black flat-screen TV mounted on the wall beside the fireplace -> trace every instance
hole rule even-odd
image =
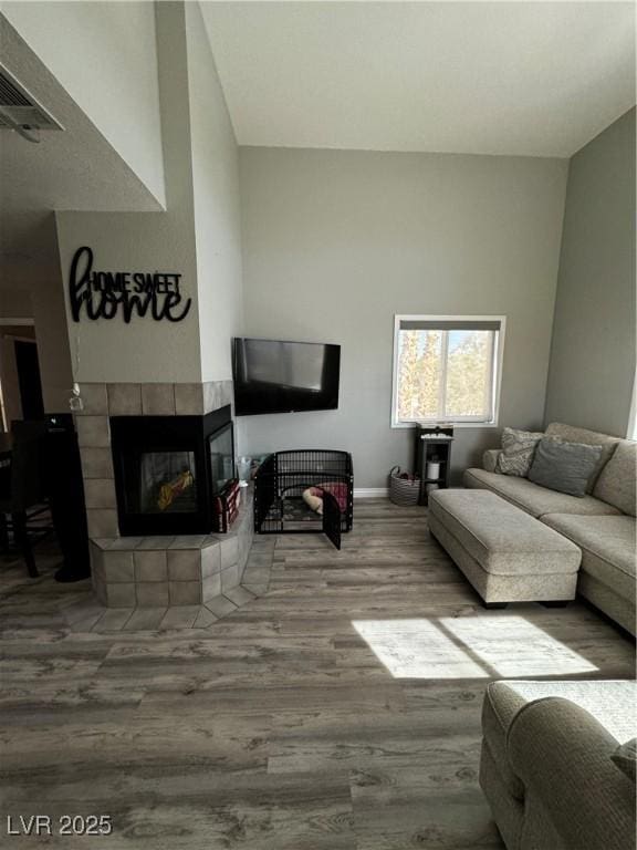
[[[338,407],[341,345],[236,339],[232,361],[238,416]]]

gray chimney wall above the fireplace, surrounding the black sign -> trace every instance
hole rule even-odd
[[[82,245],[96,269],[178,271],[192,305],[178,323],[70,320],[80,382],[231,377],[241,321],[237,144],[199,7],[157,3],[156,12],[166,212],[58,212],[60,256],[65,283]]]

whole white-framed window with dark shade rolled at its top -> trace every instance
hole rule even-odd
[[[495,425],[505,318],[397,315],[391,425]]]

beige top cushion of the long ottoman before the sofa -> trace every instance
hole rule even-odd
[[[579,549],[488,490],[437,490],[429,510],[485,572],[537,576],[576,572]]]

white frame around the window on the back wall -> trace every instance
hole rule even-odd
[[[400,421],[398,413],[398,336],[401,322],[499,322],[500,330],[495,338],[495,352],[493,353],[493,412],[489,421],[479,419],[470,416],[457,416],[436,419],[419,419],[425,423],[446,422],[455,425],[457,428],[497,428],[500,418],[500,396],[502,390],[502,364],[504,361],[504,336],[507,332],[505,315],[416,315],[411,313],[400,313],[394,315],[394,361],[391,371],[391,422],[393,428],[414,428],[417,422]]]

